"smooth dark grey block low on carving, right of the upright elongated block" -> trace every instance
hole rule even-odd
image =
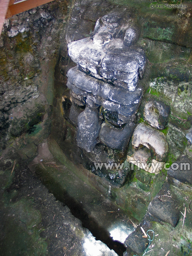
[[[135,124],[126,124],[123,128],[115,128],[103,124],[100,129],[99,139],[109,148],[124,151],[129,143]]]

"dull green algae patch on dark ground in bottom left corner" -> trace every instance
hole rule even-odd
[[[0,239],[1,255],[48,255],[47,243],[39,232],[41,214],[34,209],[33,201],[21,199],[9,203],[3,211],[5,215],[4,235]]]

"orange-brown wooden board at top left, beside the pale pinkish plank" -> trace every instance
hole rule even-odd
[[[20,12],[25,12],[30,9],[33,9],[39,5],[46,4],[52,2],[50,0],[26,0],[23,2],[18,2],[9,6],[9,10],[11,15],[18,14]]]

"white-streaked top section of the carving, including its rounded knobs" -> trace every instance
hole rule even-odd
[[[126,47],[137,41],[139,32],[121,22],[117,14],[105,15],[96,22],[91,38],[69,43],[68,52],[84,72],[134,91],[143,76],[146,57],[138,47]]]

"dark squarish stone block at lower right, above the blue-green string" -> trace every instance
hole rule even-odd
[[[180,219],[180,203],[176,196],[170,194],[169,191],[170,185],[165,182],[160,192],[150,202],[148,212],[175,227]]]

